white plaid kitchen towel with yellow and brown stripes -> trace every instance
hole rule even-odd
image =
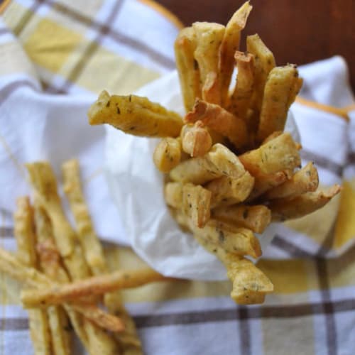
[[[2,6],[0,245],[15,249],[14,202],[29,192],[23,164],[46,158],[59,177],[60,163],[73,156],[99,235],[127,244],[102,175],[104,129],[89,127],[86,111],[103,88],[129,94],[173,70],[181,23],[146,0]],[[302,158],[315,161],[322,184],[342,183],[341,196],[280,226],[258,263],[275,285],[264,305],[234,305],[229,282],[181,280],[124,291],[146,354],[354,353],[354,98],[342,58],[300,73],[305,84],[292,109]],[[113,268],[143,265],[129,248],[111,244],[107,258]],[[31,354],[20,286],[0,278],[0,354]]]

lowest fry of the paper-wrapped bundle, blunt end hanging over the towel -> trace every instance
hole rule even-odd
[[[231,298],[241,305],[252,305],[263,303],[265,296],[273,292],[273,284],[251,261],[242,256],[226,253],[221,247],[212,244],[201,235],[194,234],[195,239],[207,249],[214,253],[224,266],[227,275],[233,284]]]

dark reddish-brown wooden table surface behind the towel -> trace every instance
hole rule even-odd
[[[226,24],[244,0],[158,0],[180,20]],[[252,0],[244,31],[258,33],[278,65],[342,55],[355,91],[355,0]],[[244,50],[245,40],[242,40]]]

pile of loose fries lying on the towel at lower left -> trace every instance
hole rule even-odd
[[[151,268],[109,273],[82,192],[77,160],[62,165],[63,190],[75,219],[67,221],[48,162],[27,165],[33,186],[14,214],[16,256],[0,249],[0,271],[25,284],[23,307],[35,354],[71,354],[71,330],[88,354],[143,354],[119,289],[166,280]],[[104,310],[104,308],[106,310]]]

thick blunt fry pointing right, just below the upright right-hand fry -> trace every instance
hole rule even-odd
[[[258,149],[239,155],[239,160],[255,178],[300,166],[300,154],[290,133],[283,133]]]

